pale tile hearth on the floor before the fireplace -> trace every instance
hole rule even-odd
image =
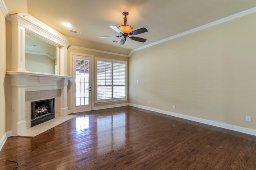
[[[40,133],[43,133],[57,125],[60,125],[61,123],[64,123],[65,121],[68,121],[73,117],[76,117],[76,115],[66,115],[66,116],[56,117],[54,119],[51,119],[49,121],[46,121],[44,123],[41,123],[39,125],[36,125],[34,127],[27,129],[26,133],[19,135],[19,137],[35,137],[36,135],[39,135]]]

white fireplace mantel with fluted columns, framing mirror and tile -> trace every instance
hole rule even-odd
[[[42,23],[29,14],[13,14],[12,23],[12,68],[6,73],[11,78],[12,87],[12,136],[26,132],[25,92],[40,90],[61,91],[60,115],[68,115],[67,107],[67,49],[70,43],[64,35]],[[28,72],[25,69],[25,33],[58,45],[60,55],[57,57],[57,75],[38,72]]]

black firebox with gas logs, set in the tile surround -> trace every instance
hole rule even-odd
[[[31,127],[54,119],[54,98],[31,102]]]

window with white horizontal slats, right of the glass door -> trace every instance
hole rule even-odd
[[[96,58],[96,103],[126,100],[126,61]]]

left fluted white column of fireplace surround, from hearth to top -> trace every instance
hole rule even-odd
[[[18,25],[18,15],[11,16],[12,21],[12,68],[9,75],[12,87],[12,135],[17,136],[26,132],[25,121],[25,28]]]

